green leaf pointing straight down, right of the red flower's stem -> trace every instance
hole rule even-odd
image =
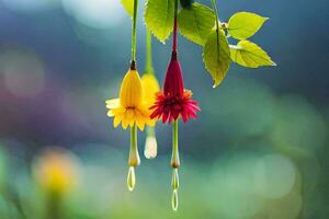
[[[214,88],[223,81],[230,65],[227,38],[223,31],[218,33],[219,42],[217,41],[216,32],[212,33],[203,50],[203,61],[214,79]]]

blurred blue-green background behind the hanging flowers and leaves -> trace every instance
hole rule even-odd
[[[141,157],[129,193],[129,134],[106,117],[104,101],[118,95],[131,55],[120,0],[0,0],[0,218],[328,218],[329,2],[217,4],[223,21],[238,11],[271,18],[252,41],[277,67],[232,65],[213,89],[202,48],[179,38],[185,85],[202,112],[180,124],[173,212],[171,127],[158,123],[158,158]],[[154,41],[160,81],[170,45]]]

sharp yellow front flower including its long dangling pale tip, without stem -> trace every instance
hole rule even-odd
[[[135,168],[140,164],[137,147],[137,127],[144,130],[145,125],[152,127],[156,123],[155,119],[150,118],[151,111],[149,110],[148,101],[145,99],[141,80],[134,60],[122,81],[120,97],[107,100],[105,103],[106,108],[109,108],[107,116],[114,117],[114,127],[117,127],[121,123],[124,129],[128,126],[131,127],[127,187],[132,192],[136,185]]]

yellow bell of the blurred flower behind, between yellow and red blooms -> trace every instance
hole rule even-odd
[[[145,73],[141,77],[141,84],[145,91],[145,102],[150,107],[156,102],[156,94],[160,91],[159,82],[155,74]]]

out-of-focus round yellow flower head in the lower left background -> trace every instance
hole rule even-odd
[[[61,149],[48,149],[36,159],[33,174],[46,192],[64,194],[77,185],[77,162]]]

